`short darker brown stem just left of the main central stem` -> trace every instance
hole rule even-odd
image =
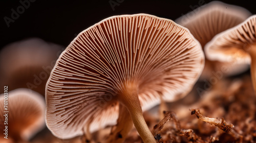
[[[133,120],[129,111],[121,103],[119,104],[119,117],[117,125],[112,128],[107,142],[122,143],[127,134],[133,128]]]

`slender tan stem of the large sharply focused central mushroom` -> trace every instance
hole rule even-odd
[[[156,139],[152,135],[150,129],[148,129],[142,114],[142,109],[138,97],[138,86],[134,83],[126,83],[124,91],[119,96],[119,100],[129,111],[134,126],[140,134],[143,142],[156,143]]]

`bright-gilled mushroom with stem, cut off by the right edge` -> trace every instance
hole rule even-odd
[[[211,60],[222,62],[251,62],[251,79],[256,94],[256,15],[216,35],[205,45],[205,54]]]

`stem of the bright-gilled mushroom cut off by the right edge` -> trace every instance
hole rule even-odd
[[[251,57],[251,80],[256,95],[256,46],[250,48],[249,54]]]

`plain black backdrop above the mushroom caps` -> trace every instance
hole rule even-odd
[[[22,2],[32,0],[22,0]],[[192,11],[197,6],[207,4],[209,0],[180,1],[42,1],[33,0],[27,9],[20,9],[19,16],[9,23],[4,17],[11,18],[12,9],[22,6],[20,1],[2,0],[1,7],[1,42],[0,48],[8,43],[29,37],[39,37],[49,42],[68,46],[81,31],[100,20],[121,14],[147,13],[158,17],[175,20],[182,14]],[[117,3],[112,9],[110,2]],[[118,3],[119,2],[119,3]],[[256,14],[256,5],[252,1],[222,1],[238,5]],[[114,4],[113,4],[114,5]]]

